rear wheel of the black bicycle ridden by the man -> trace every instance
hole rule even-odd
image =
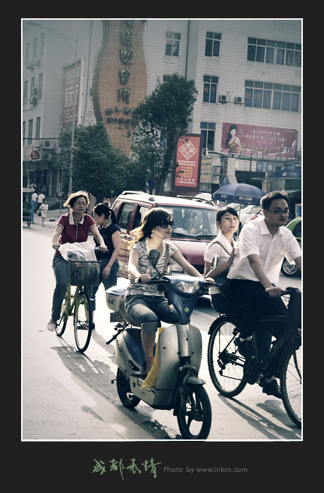
[[[213,324],[208,342],[208,370],[213,386],[226,397],[234,397],[247,385],[244,379],[245,358],[234,342],[239,330],[231,316],[220,316]]]

